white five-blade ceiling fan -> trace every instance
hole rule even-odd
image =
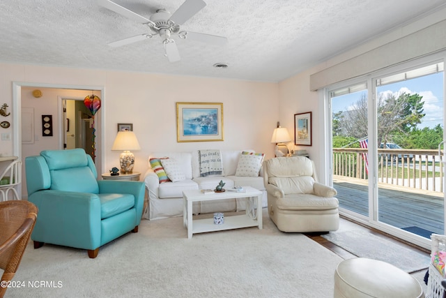
[[[159,35],[162,38],[167,59],[170,62],[175,62],[180,60],[180,53],[176,47],[175,40],[172,38],[173,35],[177,35],[179,38],[190,38],[191,40],[211,43],[213,45],[224,45],[228,42],[227,38],[223,36],[180,31],[180,25],[184,24],[206,6],[203,0],[186,0],[173,14],[165,9],[159,9],[148,19],[110,0],[98,0],[98,4],[124,17],[128,17],[130,20],[145,24],[151,29],[149,33],[143,33],[109,43],[108,45],[111,47],[121,47],[122,45],[136,43],[139,40]]]

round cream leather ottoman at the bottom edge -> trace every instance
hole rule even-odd
[[[337,297],[424,297],[420,283],[386,262],[367,258],[344,260],[334,272]]]

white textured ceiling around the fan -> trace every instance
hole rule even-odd
[[[182,30],[228,38],[215,46],[174,37],[169,63],[159,36],[107,43],[150,29],[94,0],[1,0],[0,61],[278,82],[400,24],[445,0],[205,0]],[[116,0],[146,18],[184,0]],[[213,68],[215,63],[229,68]]]

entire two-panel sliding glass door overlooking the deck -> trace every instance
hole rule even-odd
[[[420,64],[328,90],[341,213],[409,240],[444,234],[443,69]]]

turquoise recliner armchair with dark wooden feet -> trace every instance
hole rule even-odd
[[[127,232],[138,232],[144,183],[96,180],[91,156],[84,149],[47,150],[25,158],[28,200],[39,209],[31,239],[88,250]]]

